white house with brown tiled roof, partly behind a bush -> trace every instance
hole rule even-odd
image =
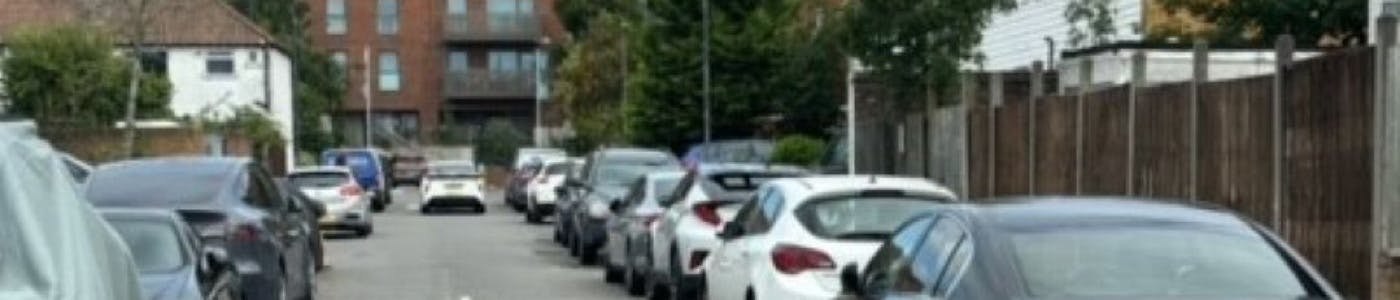
[[[119,28],[83,8],[90,3],[94,0],[0,0],[0,32],[76,21]],[[286,163],[294,165],[294,79],[287,52],[221,0],[153,3],[157,7],[148,10],[151,25],[144,60],[157,66],[150,71],[168,76],[171,112],[220,119],[238,107],[260,108],[277,122],[288,142],[283,151]]]

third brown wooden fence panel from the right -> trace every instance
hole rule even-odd
[[[1190,196],[1190,83],[1138,91],[1133,179],[1137,195]]]

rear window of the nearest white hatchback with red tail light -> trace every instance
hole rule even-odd
[[[937,209],[945,199],[930,198],[837,198],[808,202],[794,210],[813,236],[825,238],[879,240],[904,220]]]

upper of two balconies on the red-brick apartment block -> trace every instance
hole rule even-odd
[[[535,43],[543,36],[535,15],[490,18],[470,14],[468,18],[444,20],[442,38],[449,43]]]

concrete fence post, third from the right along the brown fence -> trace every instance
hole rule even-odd
[[[1187,195],[1191,200],[1200,200],[1200,168],[1201,168],[1201,91],[1207,81],[1210,81],[1210,60],[1211,53],[1205,41],[1196,41],[1191,48],[1191,102],[1189,108],[1189,126],[1190,126],[1190,140],[1187,142],[1190,149],[1190,163],[1187,171]]]

